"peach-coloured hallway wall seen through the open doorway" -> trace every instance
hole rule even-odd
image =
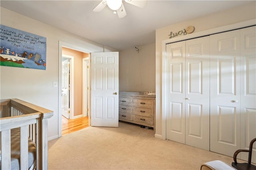
[[[82,58],[86,53],[62,47],[62,55],[74,57],[74,116],[82,114]]]

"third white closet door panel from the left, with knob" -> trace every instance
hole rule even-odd
[[[210,35],[210,150],[240,149],[240,30]]]

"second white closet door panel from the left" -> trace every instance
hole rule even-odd
[[[210,36],[186,41],[186,145],[210,149]]]

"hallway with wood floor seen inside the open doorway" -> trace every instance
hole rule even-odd
[[[88,78],[84,78],[88,70],[81,64],[84,59],[88,63],[88,53],[62,47],[62,135],[88,124],[88,92],[82,88],[86,86],[88,89]]]

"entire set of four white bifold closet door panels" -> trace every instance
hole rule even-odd
[[[228,156],[249,149],[256,138],[256,26],[167,44],[165,74],[166,139]]]

